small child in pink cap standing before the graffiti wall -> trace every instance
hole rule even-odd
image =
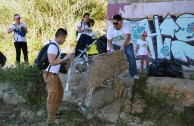
[[[149,65],[148,55],[151,56],[150,49],[149,49],[149,42],[146,40],[146,37],[147,37],[147,32],[143,31],[141,33],[141,39],[137,41],[137,47],[135,50],[136,53],[138,51],[138,55],[140,59],[140,67],[142,69],[142,72],[144,68],[144,62],[146,62],[146,69],[148,68],[148,65]]]

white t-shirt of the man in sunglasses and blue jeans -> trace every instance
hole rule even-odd
[[[113,25],[109,26],[107,31],[107,39],[112,40],[112,43],[122,46],[125,42],[125,35],[131,34],[130,27],[127,23],[123,23],[120,30],[116,30]]]

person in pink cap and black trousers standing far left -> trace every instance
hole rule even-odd
[[[16,50],[16,62],[20,62],[21,50],[24,55],[24,61],[28,62],[28,49],[26,41],[27,28],[24,22],[20,22],[20,15],[14,15],[14,23],[8,29],[8,34],[14,32],[14,46]]]

